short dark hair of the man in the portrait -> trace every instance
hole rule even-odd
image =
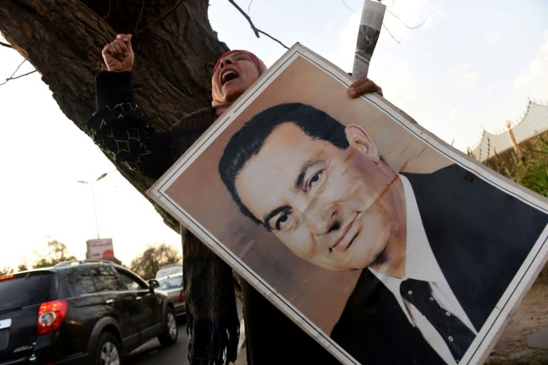
[[[283,123],[293,123],[310,138],[327,140],[341,150],[348,147],[345,126],[322,110],[306,104],[279,104],[255,114],[248,120],[228,141],[219,161],[219,173],[243,215],[250,217],[258,225],[264,225],[264,223],[258,220],[240,200],[235,180],[245,163],[259,153],[274,128]]]

